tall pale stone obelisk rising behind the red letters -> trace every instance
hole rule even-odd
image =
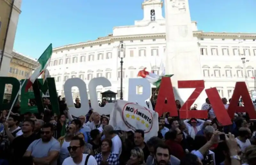
[[[174,74],[172,85],[175,99],[182,103],[194,89],[178,89],[178,80],[202,80],[198,40],[193,37],[188,0],[165,0],[166,73]],[[198,107],[205,102],[205,92],[195,101]]]

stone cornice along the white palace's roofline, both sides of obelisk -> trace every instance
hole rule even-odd
[[[200,37],[218,37],[218,38],[251,38],[256,39],[255,33],[215,33],[215,32],[203,32],[203,31],[194,31],[194,36]],[[87,42],[80,42],[77,44],[69,44],[61,47],[54,48],[53,51],[61,51],[61,50],[68,50],[68,49],[76,49],[82,48],[87,46],[99,45],[99,44],[106,44],[106,43],[113,43],[114,41],[122,41],[122,40],[134,40],[134,39],[147,39],[147,38],[165,38],[165,33],[158,33],[158,34],[139,34],[139,35],[122,35],[122,36],[113,36],[108,35],[105,37],[99,37],[94,41],[87,41]]]

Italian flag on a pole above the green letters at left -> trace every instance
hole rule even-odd
[[[26,92],[34,84],[35,80],[46,70],[48,64],[51,61],[51,56],[52,56],[52,44],[50,44],[48,48],[44,50],[44,53],[37,60],[40,66],[33,72],[33,74],[28,79],[25,87]]]

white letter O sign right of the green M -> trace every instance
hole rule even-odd
[[[72,96],[72,87],[76,86],[79,89],[81,98],[81,107],[78,109],[74,105],[74,99]],[[68,79],[64,84],[64,93],[67,102],[69,112],[73,116],[86,115],[89,112],[88,96],[85,82],[80,78]]]

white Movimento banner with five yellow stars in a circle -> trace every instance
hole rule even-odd
[[[152,136],[157,136],[158,132],[158,113],[142,107],[139,104],[116,100],[115,107],[110,114],[109,124],[115,130],[144,131],[144,140],[147,141]]]

